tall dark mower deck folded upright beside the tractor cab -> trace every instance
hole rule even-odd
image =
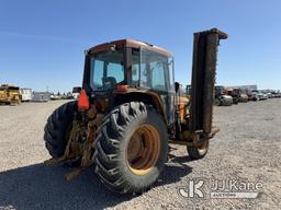
[[[220,39],[228,36],[217,28],[194,33],[193,36],[189,129],[209,135],[212,132],[217,48]]]

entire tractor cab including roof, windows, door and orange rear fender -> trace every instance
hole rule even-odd
[[[175,120],[173,59],[155,45],[121,39],[90,48],[83,89],[91,102],[103,102],[103,109],[140,101],[158,109],[168,124]]]

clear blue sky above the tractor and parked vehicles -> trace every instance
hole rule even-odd
[[[281,1],[0,0],[0,83],[45,91],[80,85],[83,50],[136,38],[170,50],[190,83],[192,33],[218,27],[217,84],[281,89]]]

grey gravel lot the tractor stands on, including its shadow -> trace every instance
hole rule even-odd
[[[90,167],[71,182],[66,166],[45,166],[49,159],[43,129],[63,101],[0,106],[0,210],[3,209],[280,209],[281,100],[215,107],[221,132],[207,155],[190,161],[182,145],[172,145],[170,160],[156,186],[142,196],[109,191]],[[203,179],[204,198],[184,198],[180,188]],[[257,199],[210,199],[212,182],[262,183]]]

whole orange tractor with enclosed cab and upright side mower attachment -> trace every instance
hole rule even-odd
[[[218,132],[212,126],[216,57],[227,34],[212,28],[193,37],[189,100],[175,82],[172,55],[160,47],[120,39],[87,50],[79,100],[47,119],[53,159],[46,164],[78,164],[66,179],[92,165],[109,189],[142,194],[158,179],[169,143],[186,145],[192,159],[205,156]]]

